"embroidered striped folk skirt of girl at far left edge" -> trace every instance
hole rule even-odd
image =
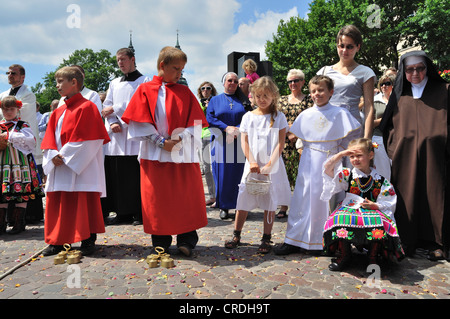
[[[23,203],[44,197],[42,181],[33,155],[9,145],[0,152],[2,194],[0,203]]]

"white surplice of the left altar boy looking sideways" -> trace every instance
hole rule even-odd
[[[44,150],[42,167],[47,175],[45,192],[99,192],[106,195],[105,170],[103,168],[103,139],[68,142],[61,145],[61,126],[64,114],[55,130],[58,150]],[[64,164],[55,167],[53,157],[61,154]]]

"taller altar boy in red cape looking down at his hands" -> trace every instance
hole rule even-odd
[[[139,86],[122,120],[129,136],[141,141],[144,232],[152,235],[154,248],[166,251],[177,235],[179,251],[190,256],[196,230],[208,223],[197,152],[207,122],[190,89],[177,84],[186,62],[183,51],[163,48],[158,76]]]

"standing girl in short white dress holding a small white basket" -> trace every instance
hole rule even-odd
[[[225,243],[225,247],[231,249],[240,244],[241,231],[248,211],[260,208],[264,209],[264,233],[258,252],[265,254],[272,248],[270,239],[275,210],[278,205],[288,205],[290,201],[289,180],[284,163],[280,159],[289,125],[284,114],[277,111],[278,88],[269,77],[256,80],[251,91],[257,108],[246,113],[240,125],[246,162],[239,184],[235,230],[233,238]],[[264,180],[263,175],[270,176],[268,193],[250,194],[246,185],[247,177]]]

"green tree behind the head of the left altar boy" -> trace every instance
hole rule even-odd
[[[85,71],[84,85],[94,91],[106,91],[112,79],[120,76],[116,58],[111,56],[108,50],[94,52],[91,49],[76,50],[69,58],[64,59],[58,68],[43,77],[43,83],[39,82],[32,91],[36,94],[37,101],[41,104],[41,112],[47,112],[50,103],[60,96],[56,90],[55,73],[64,66],[79,65]]]

